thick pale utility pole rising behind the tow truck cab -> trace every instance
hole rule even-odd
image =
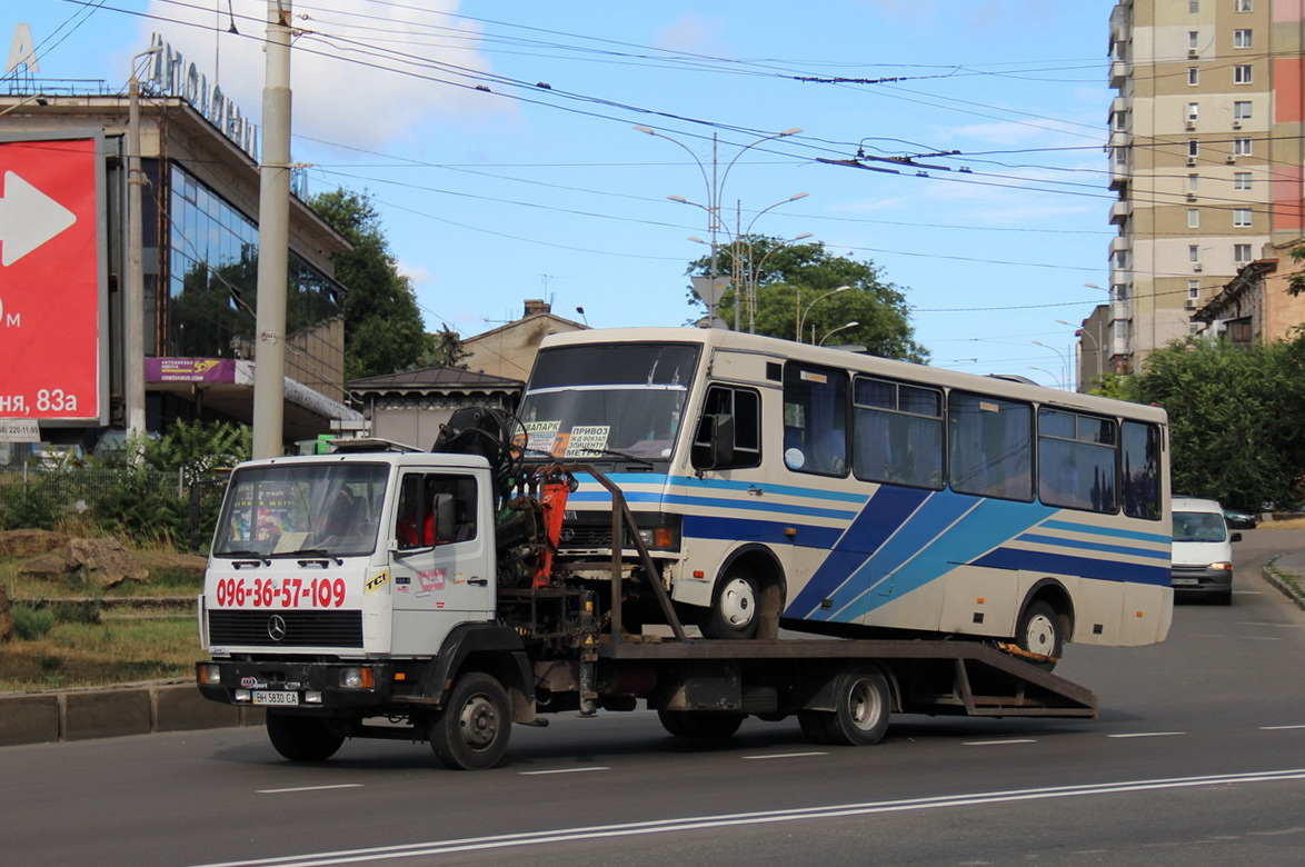
[[[268,0],[268,65],[258,166],[258,306],[253,456],[281,457],[286,394],[286,282],[290,260],[290,0]]]

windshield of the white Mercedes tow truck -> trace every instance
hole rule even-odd
[[[371,554],[389,467],[283,464],[236,470],[222,504],[217,556]]]

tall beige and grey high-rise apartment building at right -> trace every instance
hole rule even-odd
[[[1302,50],[1297,1],[1113,8],[1108,370],[1139,371],[1245,266],[1300,240]]]

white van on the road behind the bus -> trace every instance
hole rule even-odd
[[[1173,497],[1172,573],[1174,595],[1206,597],[1232,603],[1232,543],[1228,521],[1216,500]]]

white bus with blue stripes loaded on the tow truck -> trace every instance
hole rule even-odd
[[[518,417],[527,458],[590,465],[621,488],[650,555],[620,542],[626,568],[651,563],[646,577],[709,638],[966,636],[1053,661],[1070,641],[1169,629],[1158,407],[629,328],[547,337]],[[582,578],[611,561],[611,505],[581,473],[559,558]],[[637,608],[638,582],[622,586]]]

